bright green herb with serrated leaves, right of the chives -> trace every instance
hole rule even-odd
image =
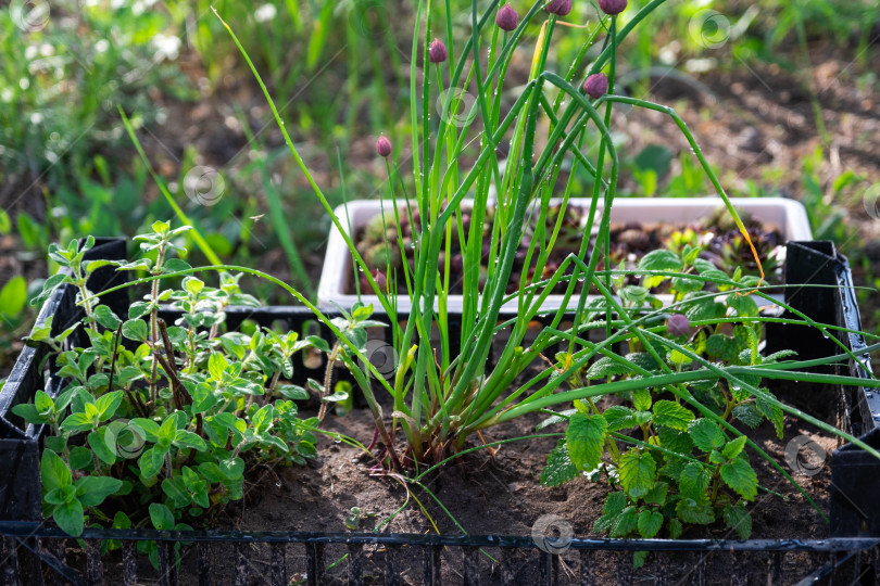
[[[654,251],[639,263],[645,271],[642,285],[618,290],[624,311],[663,311],[665,326],[653,331],[640,327],[656,352],[645,351],[644,337],[627,333],[625,360],[601,357],[578,372],[573,384],[638,381],[659,375],[662,367],[683,373],[706,362],[766,368],[794,354],[764,356],[762,322],[753,321],[759,317],[757,304],[752,296],[724,294],[757,278],[742,278],[739,270],[729,277],[699,258],[700,252],[690,245],[678,253]],[[613,280],[621,283],[624,275]],[[676,302],[672,307],[662,308],[650,292],[664,281]],[[706,294],[707,285],[719,293]],[[682,390],[702,411],[666,385],[612,393],[614,404],[599,396],[575,400],[575,409],[561,413],[568,420],[565,438],[550,454],[541,482],[558,485],[586,473],[593,482],[611,484],[615,491],[593,525],[611,537],[678,538],[688,525],[722,521],[740,538],[749,538],[746,505],[755,498],[757,475],[745,450],[747,437],[731,423],[754,429],[766,420],[780,438],[783,429],[783,411],[757,372],[742,375],[739,386],[725,380],[688,382]],[[558,417],[548,423],[556,421]],[[638,553],[637,564],[644,557]]]

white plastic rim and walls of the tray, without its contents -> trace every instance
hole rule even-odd
[[[806,211],[800,202],[785,198],[733,198],[731,202],[739,212],[749,212],[753,218],[779,229],[782,232],[783,241],[813,240]],[[568,205],[589,207],[590,200],[570,199]],[[463,208],[469,206],[470,200],[462,202]],[[614,202],[611,221],[689,224],[709,216],[722,206],[724,202],[720,198],[621,198]],[[343,228],[351,225],[351,229],[356,232],[380,211],[378,200],[355,200],[348,204],[348,218],[345,217],[345,206],[337,207],[336,216]],[[601,207],[596,217],[600,215]],[[345,293],[353,275],[351,253],[342,234],[336,227],[331,227],[327,254],[324,257],[324,269],[318,283],[318,307],[332,309],[339,305],[350,308],[359,300],[356,295]],[[562,295],[548,296],[544,308],[557,309],[562,304]],[[361,295],[361,302],[373,305],[376,311],[381,311],[381,304],[375,295]],[[577,303],[577,297],[573,297],[569,303]],[[397,305],[399,311],[410,310],[410,300],[406,298],[406,295],[399,296]],[[448,308],[450,311],[461,311],[462,296],[450,295]]]

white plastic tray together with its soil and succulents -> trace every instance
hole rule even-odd
[[[772,283],[781,284],[783,280],[781,268],[784,263],[784,243],[790,240],[809,240],[812,238],[803,206],[793,200],[782,198],[734,198],[731,201],[740,213],[747,218],[746,226],[750,229],[750,235],[755,243],[762,262],[766,263],[765,271],[768,273],[768,279]],[[462,202],[462,217],[465,230],[467,230],[467,218],[469,218],[467,212],[470,205],[468,201]],[[551,201],[551,206],[558,208],[558,201]],[[553,256],[544,271],[548,276],[558,267],[565,256],[578,252],[586,229],[584,222],[589,206],[589,200],[569,200],[563,228],[553,250]],[[382,226],[381,221],[382,209],[385,209],[386,226]],[[662,198],[618,199],[614,202],[611,212],[611,268],[618,268],[623,262],[625,268],[631,269],[645,253],[666,246],[672,239],[679,243],[680,247],[684,243],[696,243],[702,238],[704,240],[702,243],[705,245],[703,255],[706,259],[724,268],[741,266],[744,272],[751,271],[757,275],[757,267],[754,264],[751,250],[736,226],[727,219],[725,212],[726,208],[721,200],[716,198],[688,200]],[[400,267],[402,264],[400,251],[403,251],[407,262],[412,263],[413,231],[408,213],[400,214],[400,235],[397,233],[393,208],[390,202],[380,204],[378,201],[353,201],[338,207],[336,215],[340,218],[343,227],[351,226],[355,246],[370,266],[372,275],[375,277],[376,271],[379,271],[379,282],[387,282],[388,280],[384,268],[387,260],[391,262],[392,267]],[[596,217],[600,216],[601,206]],[[417,221],[418,212],[415,211],[412,217]],[[491,229],[489,221],[487,221],[488,229]],[[596,230],[598,226],[594,226],[591,243],[594,241]],[[455,231],[455,228],[453,228],[453,231]],[[386,238],[389,239],[388,245],[386,245]],[[489,240],[487,234],[482,247],[483,265],[492,252]],[[518,277],[524,270],[528,243],[529,239],[524,238],[523,244],[520,244],[520,254],[517,255],[518,264],[515,267],[510,284],[510,292],[515,292],[519,284]],[[588,250],[588,255],[589,252]],[[440,260],[441,266],[438,267],[438,270],[442,273],[445,256],[441,255]],[[451,286],[448,307],[450,311],[461,311],[461,270],[463,263],[454,237],[449,260]],[[600,264],[600,268],[603,266],[604,263]],[[372,294],[368,283],[365,282],[366,280],[361,276],[359,282],[355,283],[354,275],[351,253],[344,243],[342,234],[336,229],[331,229],[324,269],[318,284],[319,306],[334,308],[336,307],[335,304],[338,304],[348,308],[360,298],[363,303],[373,304],[374,307],[379,308],[380,304],[377,297]],[[410,302],[406,298],[402,270],[398,270],[392,280],[398,283],[397,292],[400,293],[398,307],[400,310],[406,311]],[[360,297],[357,295],[359,288]],[[548,310],[554,310],[561,306],[563,301],[562,292],[564,292],[564,285],[546,298],[544,307]],[[658,293],[663,294],[662,291]],[[577,296],[573,298],[574,301],[569,303],[576,304]],[[665,296],[661,296],[661,298],[668,301]]]

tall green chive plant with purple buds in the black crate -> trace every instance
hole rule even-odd
[[[410,75],[414,97],[410,111],[412,182],[402,178],[395,158],[395,153],[401,150],[393,148],[390,138],[380,138],[377,142],[379,155],[386,157],[389,179],[382,214],[393,218],[398,233],[401,233],[401,217],[410,217],[413,227],[416,226],[412,221],[414,216],[419,217],[418,229],[414,229],[412,235],[412,249],[406,251],[413,257],[412,268],[406,263],[402,267],[402,279],[412,305],[403,324],[397,310],[395,278],[390,271],[384,275],[369,271],[347,230],[347,219],[334,215],[327,198],[290,139],[256,67],[227,25],[232,40],[264,89],[292,156],[336,229],[342,233],[356,269],[363,272],[368,288],[362,292],[376,295],[381,306],[376,309],[389,318],[397,356],[389,375],[377,375],[368,357],[364,356],[363,337],[341,336],[335,357],[352,372],[367,397],[390,466],[440,462],[460,453],[472,434],[480,430],[573,400],[583,402],[589,397],[637,387],[669,393],[677,403],[692,409],[694,417],[724,428],[724,433],[731,434],[732,441],[742,434],[705,404],[705,398],[694,387],[696,381],[728,381],[741,393],[766,400],[774,409],[795,413],[800,412],[762,392],[754,381],[795,378],[853,382],[846,377],[828,378],[796,371],[797,362],[774,368],[755,360],[745,365],[715,364],[701,353],[686,348],[676,339],[668,340],[651,329],[643,329],[642,326],[651,320],[662,319],[665,309],[627,307],[625,292],[615,285],[614,272],[607,270],[608,226],[619,164],[608,125],[612,109],[618,104],[656,111],[675,120],[760,267],[743,222],[678,114],[663,105],[614,93],[618,44],[663,3],[664,0],[652,0],[621,23],[620,13],[626,1],[603,0],[599,20],[584,25],[566,21],[571,10],[570,0],[535,2],[521,17],[517,13],[516,18],[511,14],[512,8],[500,7],[498,0],[490,2],[483,12],[479,12],[474,2],[470,33],[463,40],[453,36],[449,1],[420,0],[417,3]],[[535,29],[538,30],[537,38],[526,42],[527,30]],[[556,65],[551,66],[553,39],[561,35],[576,36],[581,47],[576,59],[557,72],[554,71]],[[514,79],[511,64],[515,54],[521,54],[517,49],[527,46],[531,49],[532,44],[528,78]],[[511,86],[519,89],[515,99],[508,101]],[[463,92],[455,88],[464,88],[474,98],[473,105],[465,107],[464,112]],[[439,104],[439,116],[432,116],[436,104]],[[600,137],[599,143],[586,144],[586,137],[594,133]],[[502,152],[506,156],[500,154]],[[567,205],[573,196],[576,170],[594,179],[591,193],[577,194],[591,199],[587,229],[581,234],[578,254],[567,256],[550,277],[544,278],[548,258],[564,217],[564,214],[555,214],[556,222],[548,222],[549,211],[552,205]],[[495,221],[485,235],[486,212],[492,204],[495,206]],[[517,250],[524,242],[529,220],[535,218],[535,229],[528,232],[526,240],[528,252],[525,259],[525,265],[535,267],[535,270],[523,270],[516,292],[506,294]],[[590,246],[593,228],[598,229],[598,244]],[[461,320],[457,340],[452,340],[449,311],[453,286],[450,280],[452,255],[449,253],[453,235],[461,244],[464,275],[460,283],[464,294],[462,314],[456,317]],[[481,275],[480,259],[487,244],[488,269]],[[670,270],[680,269],[683,259],[669,254],[671,258],[668,254],[651,256],[648,263],[642,263],[640,270],[652,273],[651,278],[659,278]],[[390,258],[391,255],[386,256]],[[692,258],[690,263],[693,264]],[[600,266],[605,270],[600,270]],[[681,279],[679,291],[683,291],[683,283],[692,279],[720,279],[722,284],[733,283],[725,293],[728,298],[733,295],[728,302],[731,305],[750,303],[740,301],[750,298],[747,295],[769,298],[759,288],[762,279],[738,283],[724,273],[672,277]],[[579,283],[583,285],[579,286]],[[565,285],[562,307],[558,310],[545,309],[544,301],[558,284]],[[692,288],[688,295],[699,294],[697,289]],[[588,305],[591,291],[600,296],[598,305]],[[297,296],[302,297],[298,293]],[[517,318],[500,322],[503,306],[515,307]],[[601,310],[599,315],[596,310]],[[537,335],[529,335],[527,341],[529,324],[539,315],[548,316],[549,323]],[[592,343],[582,336],[596,319],[605,330],[606,341],[603,343]],[[754,311],[742,314],[736,310],[719,319],[730,322],[758,320]],[[807,318],[803,319],[809,322]],[[569,321],[570,327],[564,328],[564,321]],[[752,331],[751,326],[743,327]],[[817,327],[824,331],[828,329],[822,324]],[[436,344],[431,342],[432,332],[439,333]],[[640,345],[639,352],[655,360],[653,370],[640,366],[628,355],[614,352],[615,343],[631,341],[633,336]],[[554,368],[531,375],[528,372],[531,365],[560,343],[565,349]],[[494,353],[494,364],[490,365],[488,357],[496,344],[501,349]],[[696,366],[680,369],[670,365],[665,358],[665,348],[669,344],[676,344],[675,349],[690,357]],[[455,354],[453,347],[458,347],[460,352]],[[563,391],[567,381],[596,358],[626,366],[640,378],[576,385]],[[835,360],[840,357],[828,358],[828,361]],[[876,381],[866,384],[878,385]],[[390,421],[382,417],[374,386],[381,387],[392,397]],[[824,425],[824,429],[830,428]],[[405,438],[402,456],[398,454],[399,433]],[[838,433],[880,457],[856,438]],[[750,440],[746,438],[745,444],[764,455]]]

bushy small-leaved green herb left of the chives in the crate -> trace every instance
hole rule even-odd
[[[187,276],[179,288],[163,289],[164,276],[190,269],[173,257],[184,252],[178,237],[188,228],[163,221],[152,228],[136,238],[147,255],[127,264],[83,262],[92,238],[52,246],[62,271],[35,300],[73,286],[84,309],[81,323],[56,336],[49,323],[28,341],[50,348],[64,386],[13,407],[28,423],[48,428],[43,513],[71,535],[86,525],[179,530],[209,522],[224,504],[242,498],[255,467],[303,464],[316,456],[317,419],[300,419],[294,403],[309,393],[289,380],[291,357],[323,341],[266,328],[250,335],[224,331],[228,306],[259,302],[241,291],[240,276],[227,272],[218,288]],[[153,278],[127,316],[87,289],[89,275],[108,265]],[[159,317],[162,303],[180,310],[174,324]],[[70,343],[77,328],[86,346]]]

